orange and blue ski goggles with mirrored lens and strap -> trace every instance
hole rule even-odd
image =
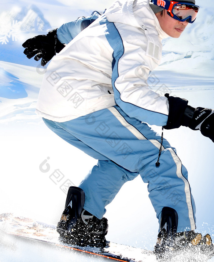
[[[166,9],[168,15],[182,22],[187,20],[188,23],[193,23],[199,10],[199,6],[185,1],[152,0],[151,2]]]

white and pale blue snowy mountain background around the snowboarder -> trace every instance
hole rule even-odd
[[[112,2],[11,0],[1,3],[0,213],[13,212],[56,224],[65,205],[63,188],[66,181],[78,185],[97,163],[57,137],[35,114],[46,67],[34,59],[27,59],[21,45],[28,38],[46,34],[78,16],[86,16],[94,10],[103,11]],[[214,108],[213,2],[198,0],[197,4],[201,6],[197,20],[188,25],[180,38],[163,41],[162,63],[151,73],[148,83],[154,91],[167,91],[188,99],[191,106]],[[153,129],[161,132],[160,127],[153,126]],[[164,130],[164,137],[177,149],[189,171],[197,207],[197,231],[209,233],[214,239],[213,143],[199,131],[186,127]],[[54,179],[55,170],[63,174],[59,182]],[[109,221],[107,239],[153,249],[158,222],[148,198],[147,185],[139,176],[123,186],[107,206],[105,217]],[[29,261],[29,257],[31,261],[97,260],[44,245],[36,245],[38,252],[35,252],[35,244],[7,241],[0,243],[1,261]],[[8,251],[14,246],[16,253],[13,256]]]

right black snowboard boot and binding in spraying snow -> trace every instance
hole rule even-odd
[[[177,212],[164,207],[161,213],[161,230],[154,247],[157,260],[177,261],[183,257],[184,261],[206,261],[214,255],[214,246],[209,234],[203,237],[194,230],[177,233],[177,225]]]

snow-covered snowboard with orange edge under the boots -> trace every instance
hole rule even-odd
[[[59,234],[56,231],[55,225],[42,223],[27,217],[15,216],[11,213],[0,215],[0,230],[6,232],[9,235],[41,241],[47,244],[55,245],[59,248],[84,252],[115,261],[157,261],[153,251],[117,244],[109,241],[107,241],[106,247],[102,249],[90,246],[80,247],[68,245],[58,240]]]

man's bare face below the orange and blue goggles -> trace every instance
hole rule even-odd
[[[156,16],[163,31],[174,38],[179,38],[188,24],[187,21],[181,22],[169,16],[165,9],[163,12],[163,16],[161,16],[161,12],[157,13]]]

